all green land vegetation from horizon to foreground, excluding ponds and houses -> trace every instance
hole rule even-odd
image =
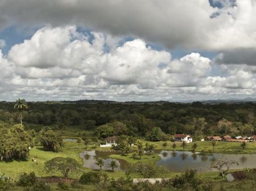
[[[215,133],[253,134],[254,104],[246,104],[249,109],[241,105],[228,105],[228,109],[237,108],[235,114],[220,111],[223,105],[201,103],[31,103],[32,109],[28,112],[25,111],[29,108],[25,100],[17,100],[13,108],[17,111],[10,108],[10,103],[0,105],[4,108],[0,110],[1,191],[212,191],[255,188],[256,176],[251,169],[244,170],[241,180],[225,181],[226,174],[230,172],[229,167],[236,164],[235,161],[217,160],[211,167],[218,172],[196,173],[189,170],[185,173],[172,173],[155,165],[160,156],[154,153],[155,149],[256,153],[254,142],[171,142],[171,134],[174,133],[190,133],[196,140]],[[113,105],[121,108],[113,109]],[[170,109],[170,106],[173,108]],[[208,112],[208,116],[205,117],[202,111]],[[15,125],[15,122],[20,124]],[[117,146],[99,147],[102,141],[105,142],[104,138],[112,135],[118,135]],[[75,138],[73,142],[63,141],[63,138],[71,137]],[[112,160],[110,170],[102,170],[105,160],[96,158],[98,169],[82,167],[79,154],[84,150],[118,150],[119,154],[112,154],[110,158],[125,160],[129,165],[126,171],[117,171],[115,168],[118,165]],[[133,184],[132,179],[141,177],[162,177],[164,181]]]

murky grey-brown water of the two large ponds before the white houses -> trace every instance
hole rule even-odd
[[[105,165],[102,169],[111,169],[109,163],[115,160],[118,164],[117,170],[124,171],[127,168],[125,160],[110,159],[110,154],[118,154],[118,152],[100,152],[100,151],[84,151],[80,153],[80,157],[84,161],[84,167],[91,169],[99,169],[95,164],[96,158],[100,157],[105,160]],[[160,160],[156,165],[164,165],[171,172],[184,172],[186,169],[197,169],[198,172],[210,172],[210,164],[217,159],[236,160],[239,165],[233,165],[233,169],[238,168],[256,168],[256,154],[219,154],[200,155],[200,153],[193,154],[188,151],[163,151],[155,150],[155,153],[160,156]],[[232,169],[231,168],[231,169]]]

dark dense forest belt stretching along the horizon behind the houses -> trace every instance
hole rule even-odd
[[[80,126],[86,130],[119,121],[129,129],[128,134],[141,136],[156,126],[170,134],[250,135],[255,133],[255,112],[255,103],[47,101],[28,102],[28,109],[23,112],[23,120],[30,125],[53,126],[56,129]],[[19,122],[19,112],[14,109],[14,103],[0,103],[0,120]]]

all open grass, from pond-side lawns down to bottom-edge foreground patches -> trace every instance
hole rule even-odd
[[[146,141],[144,141],[146,143]],[[163,149],[163,142],[148,142],[148,143],[154,143],[157,145],[157,149]],[[168,146],[166,147],[167,150],[172,150],[172,142],[168,142]],[[182,147],[180,143],[176,143],[177,148],[176,150],[182,150]],[[188,144],[185,150],[191,150],[191,145]],[[197,142],[198,148],[197,151],[201,151],[202,149],[211,149],[212,146],[210,146],[209,142]],[[97,150],[109,150],[111,147],[96,147],[95,145],[89,145],[88,149],[97,149]],[[31,148],[30,151],[30,158],[28,158],[27,161],[13,161],[13,162],[1,162],[0,163],[0,173],[5,173],[6,176],[10,176],[12,179],[17,180],[18,176],[22,172],[35,172],[36,176],[61,176],[60,173],[51,173],[47,174],[46,171],[44,171],[44,163],[52,159],[56,156],[63,156],[63,157],[71,157],[77,160],[80,164],[82,164],[82,159],[79,157],[79,153],[81,151],[85,150],[85,146],[76,142],[65,142],[64,147],[60,152],[51,152],[51,151],[44,151],[42,147],[34,147]],[[230,151],[231,150],[231,151]],[[228,142],[218,142],[218,145],[215,147],[214,151],[217,152],[242,152],[242,149],[240,148],[239,143],[228,143]],[[247,153],[255,153],[256,152],[256,146],[253,143],[247,144],[247,148],[245,150]],[[36,156],[37,163],[32,162],[32,158]],[[131,158],[131,154],[125,156],[125,155],[110,155],[110,157],[115,158],[115,159],[123,159],[126,160],[128,163],[136,163],[136,162],[144,162],[144,163],[155,163],[157,160],[159,160],[158,155],[143,155],[142,159],[133,159]],[[88,168],[81,168],[80,172],[76,173],[71,173],[70,177],[79,179],[81,174],[83,172],[88,172],[88,171],[97,171],[97,170],[92,170]],[[114,179],[118,179],[119,177],[125,177],[125,172],[123,171],[105,171],[108,176]],[[180,173],[166,173],[164,174],[165,177],[174,177],[176,175],[179,175]],[[221,188],[224,188],[225,190],[253,190],[250,188],[249,181],[248,180],[243,180],[243,181],[235,181],[235,182],[226,182],[221,179],[221,177],[218,175],[217,172],[207,172],[207,173],[198,173],[198,176],[200,176],[202,179],[209,180],[209,181],[216,181],[216,185],[214,184],[214,190],[220,190]],[[141,177],[138,174],[132,174],[132,178],[135,177]],[[57,185],[52,184],[52,190],[57,190]],[[82,190],[95,190],[97,187],[94,185],[89,185],[89,186],[83,186]],[[23,190],[23,188],[20,187],[15,187],[14,190]],[[81,189],[73,189],[74,191],[80,191]]]

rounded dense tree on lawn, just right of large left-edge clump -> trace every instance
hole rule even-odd
[[[58,152],[63,147],[63,139],[56,131],[43,128],[39,136],[41,144],[47,150]]]

